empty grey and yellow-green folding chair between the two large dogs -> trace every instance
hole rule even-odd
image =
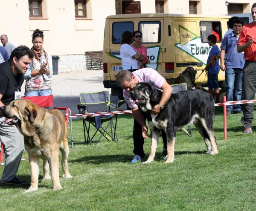
[[[108,91],[101,91],[101,92],[92,92],[92,93],[80,93],[80,104],[77,104],[77,108],[79,109],[79,114],[88,113],[88,106],[89,105],[96,105],[96,104],[106,104],[106,111],[111,111],[111,108],[115,110],[119,110],[119,107],[125,102],[125,100],[118,101],[115,104],[110,102],[110,94]],[[97,111],[93,110],[90,113],[96,113]],[[116,123],[117,123],[117,116],[110,114],[108,116],[86,116],[83,118],[83,126],[84,126],[84,142],[87,144],[90,142],[92,144],[92,140],[95,137],[96,133],[101,133],[99,139],[97,140],[96,144],[99,140],[104,136],[108,141],[115,141],[116,143],[119,142],[117,134],[116,134]],[[105,118],[101,118],[105,117]],[[86,123],[88,122],[88,125]],[[114,124],[115,121],[115,124]],[[104,123],[108,123],[106,127],[103,127]],[[106,125],[104,124],[104,126]],[[90,137],[90,129],[93,126],[96,128],[95,133],[92,137]],[[108,128],[110,126],[111,133],[108,132]],[[87,134],[87,139],[86,139]],[[95,144],[95,145],[96,145]]]

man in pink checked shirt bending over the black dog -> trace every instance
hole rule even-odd
[[[151,113],[158,114],[164,105],[169,100],[172,94],[172,87],[166,82],[166,80],[154,69],[143,68],[134,72],[123,70],[116,75],[116,82],[119,87],[123,89],[123,96],[132,110],[134,116],[134,158],[131,163],[142,161],[145,156],[143,145],[144,138],[148,139],[148,127],[146,126],[146,114],[142,113],[137,104],[132,100],[130,91],[133,90],[134,85],[138,82],[147,82],[159,90],[163,90],[163,95],[159,104],[155,105],[151,110]],[[166,133],[162,130],[163,138],[163,154],[167,156],[167,139]]]

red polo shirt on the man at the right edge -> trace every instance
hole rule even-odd
[[[247,61],[256,61],[256,26],[254,26],[253,23],[244,25],[239,35],[237,45],[247,43],[253,36],[253,43],[244,51],[244,58]]]

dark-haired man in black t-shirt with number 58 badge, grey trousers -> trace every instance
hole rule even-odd
[[[12,51],[10,60],[0,64],[0,107],[9,104],[21,95],[23,75],[29,69],[34,53],[27,46],[18,46]],[[17,178],[16,173],[24,148],[23,136],[15,125],[4,124],[6,118],[1,116],[0,139],[5,145],[5,165],[1,183],[24,185],[25,181]]]

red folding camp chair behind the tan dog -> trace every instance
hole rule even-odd
[[[28,99],[32,103],[37,104],[40,107],[50,107],[53,108],[53,95],[48,96],[34,96],[34,97],[22,97],[22,99]],[[68,107],[55,107],[58,110],[66,110],[67,115],[71,115],[71,110]],[[66,115],[65,115],[66,116]],[[68,127],[68,118],[66,118],[66,124]],[[70,118],[70,129],[71,129],[71,137],[67,137],[71,140],[71,147],[73,148],[73,131],[72,131],[72,119]]]

